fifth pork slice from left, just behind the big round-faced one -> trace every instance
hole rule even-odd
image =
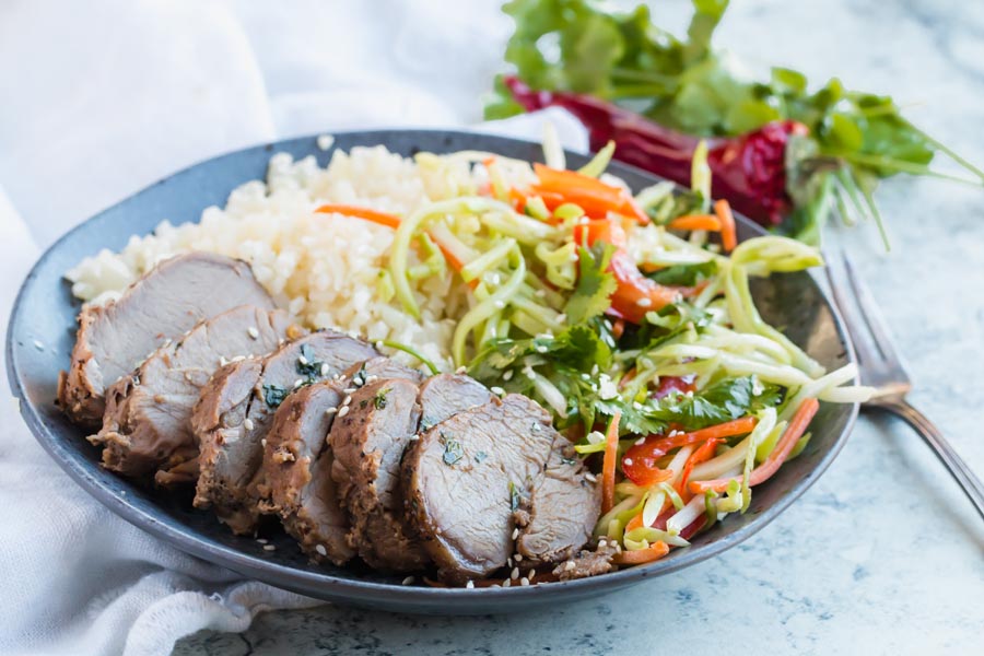
[[[418,386],[384,378],[355,390],[336,415],[328,442],[331,478],[349,513],[349,543],[370,565],[394,572],[429,559],[405,522],[400,458],[420,423]]]

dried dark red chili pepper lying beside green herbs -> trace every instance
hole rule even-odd
[[[565,92],[536,91],[515,77],[505,84],[528,112],[563,107],[588,129],[591,149],[616,143],[616,159],[681,185],[690,185],[700,139],[670,130],[618,105]],[[786,144],[809,129],[794,120],[765,124],[734,138],[707,139],[712,195],[763,225],[777,225],[793,207],[786,194]]]

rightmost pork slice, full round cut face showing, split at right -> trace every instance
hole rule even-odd
[[[410,523],[442,578],[488,576],[514,554],[520,531],[519,553],[531,563],[587,541],[599,504],[566,444],[550,414],[520,395],[458,412],[411,444],[402,464]]]

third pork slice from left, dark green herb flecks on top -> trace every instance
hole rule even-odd
[[[195,505],[212,507],[237,534],[253,532],[269,496],[260,466],[277,408],[295,389],[340,376],[376,354],[364,341],[319,330],[284,344],[259,366],[244,361],[216,377],[202,390],[192,418],[200,449]]]

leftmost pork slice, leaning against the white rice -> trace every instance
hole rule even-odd
[[[239,305],[273,309],[247,263],[209,253],[164,260],[118,301],[83,307],[71,364],[59,376],[59,406],[72,421],[98,427],[110,385],[168,339]]]

